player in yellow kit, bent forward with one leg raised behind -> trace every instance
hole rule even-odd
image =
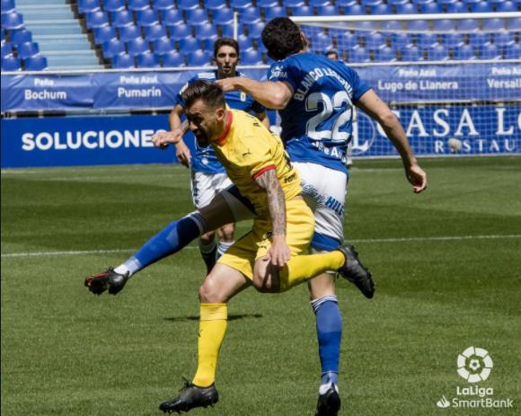
[[[247,113],[227,110],[216,84],[195,81],[182,98],[199,145],[215,148],[255,216],[250,233],[225,252],[199,288],[198,369],[181,394],[160,405],[163,412],[188,412],[218,401],[216,362],[226,331],[227,302],[243,288],[281,292],[325,270],[339,270],[346,279],[370,279],[349,245],[302,254],[313,236],[313,213],[278,137]]]

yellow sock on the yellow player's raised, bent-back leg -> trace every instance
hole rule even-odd
[[[344,254],[338,250],[293,257],[287,261],[287,267],[280,272],[280,291],[284,292],[325,271],[337,270],[344,261],[346,261]]]

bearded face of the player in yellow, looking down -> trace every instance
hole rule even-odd
[[[218,138],[223,130],[225,109],[211,108],[198,100],[186,110],[189,128],[197,138],[198,145],[206,147]]]

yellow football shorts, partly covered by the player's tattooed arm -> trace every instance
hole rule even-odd
[[[313,237],[313,230],[313,212],[304,199],[286,201],[286,242],[291,257],[307,250]],[[239,270],[248,279],[253,279],[255,261],[265,256],[270,246],[271,219],[255,218],[252,231],[237,240],[217,262]]]

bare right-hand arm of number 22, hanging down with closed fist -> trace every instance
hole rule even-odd
[[[373,90],[364,93],[358,100],[357,106],[382,126],[385,134],[402,156],[405,174],[407,180],[412,184],[412,190],[416,193],[426,190],[427,174],[419,167],[402,124],[393,111],[380,100],[380,97]]]

